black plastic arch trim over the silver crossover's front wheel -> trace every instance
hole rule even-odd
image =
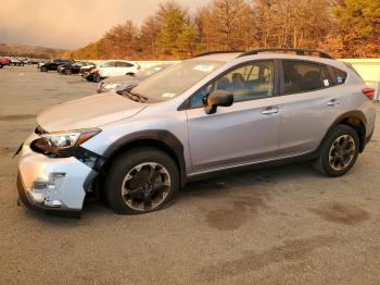
[[[147,141],[159,142],[166,146],[163,150],[166,152],[169,151],[170,153],[168,154],[170,157],[174,156],[174,159],[179,166],[180,185],[183,187],[187,182],[183,145],[174,134],[165,129],[140,131],[118,138],[103,152],[102,157],[105,158],[105,163],[116,154],[117,151],[127,149],[128,146],[140,146],[137,145],[139,141],[142,142],[141,146],[144,146],[143,144]]]

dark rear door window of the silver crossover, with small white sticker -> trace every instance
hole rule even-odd
[[[317,90],[333,85],[325,65],[303,61],[283,61],[282,66],[286,95]]]

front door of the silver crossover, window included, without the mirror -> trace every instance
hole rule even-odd
[[[206,114],[202,102],[213,90],[231,91],[233,104]],[[279,133],[276,92],[270,60],[245,63],[195,92],[187,110],[192,172],[274,159]]]

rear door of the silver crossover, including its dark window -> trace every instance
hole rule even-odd
[[[279,157],[315,150],[342,112],[343,94],[327,65],[282,60]]]

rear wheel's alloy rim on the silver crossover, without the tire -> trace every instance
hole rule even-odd
[[[355,140],[352,136],[338,137],[330,148],[330,166],[335,171],[345,170],[354,159],[355,149]]]

